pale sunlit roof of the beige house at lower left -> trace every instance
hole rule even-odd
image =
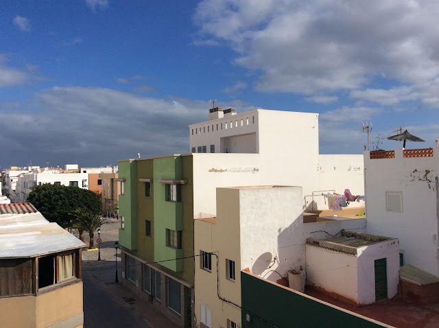
[[[23,211],[22,207],[19,208]],[[24,208],[26,211],[35,209],[30,203]],[[86,246],[58,224],[47,221],[36,210],[32,213],[2,213],[0,244],[0,259],[36,257]]]

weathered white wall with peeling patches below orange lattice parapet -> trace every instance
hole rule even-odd
[[[404,263],[439,276],[438,189],[439,148],[432,157],[370,159],[364,152],[367,232],[397,237]],[[386,192],[402,195],[402,211],[388,211]]]

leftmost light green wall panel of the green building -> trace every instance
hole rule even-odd
[[[137,250],[137,165],[136,161],[119,161],[119,178],[125,178],[123,195],[119,195],[119,215],[125,217],[125,228],[119,229],[119,243],[128,250]]]

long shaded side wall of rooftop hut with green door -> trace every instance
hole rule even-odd
[[[357,303],[358,259],[346,254],[307,244],[307,281]],[[372,282],[375,278],[372,274]],[[372,287],[371,287],[372,288]],[[375,285],[372,288],[375,293]]]

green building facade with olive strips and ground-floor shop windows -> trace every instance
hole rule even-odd
[[[193,318],[191,155],[119,161],[122,283],[180,327]]]

